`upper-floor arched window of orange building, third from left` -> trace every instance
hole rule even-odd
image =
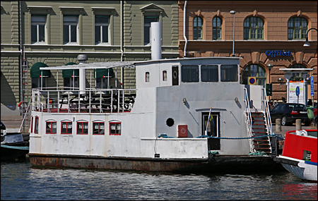
[[[258,17],[246,18],[244,21],[244,39],[264,39],[264,21]]]

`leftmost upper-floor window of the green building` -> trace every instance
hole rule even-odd
[[[45,42],[46,16],[31,16],[31,43]]]

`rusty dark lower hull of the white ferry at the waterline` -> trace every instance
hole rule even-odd
[[[285,171],[273,157],[218,156],[208,159],[163,159],[137,157],[98,157],[54,154],[28,154],[33,166],[53,168],[110,169],[165,172],[259,172]]]

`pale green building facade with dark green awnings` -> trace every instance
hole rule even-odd
[[[78,87],[78,72],[59,72],[57,83],[40,67],[72,65],[79,54],[86,63],[151,59],[151,22],[162,25],[163,59],[176,58],[177,20],[177,1],[1,1],[1,118],[19,115],[33,87]],[[135,87],[135,71],[97,71],[93,83]]]

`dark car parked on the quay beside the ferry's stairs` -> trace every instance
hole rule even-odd
[[[310,126],[310,118],[307,116],[307,107],[305,104],[282,103],[276,105],[269,111],[271,122],[275,123],[276,118],[281,118],[281,126],[288,126],[295,123],[296,119],[301,119],[305,126]]]

